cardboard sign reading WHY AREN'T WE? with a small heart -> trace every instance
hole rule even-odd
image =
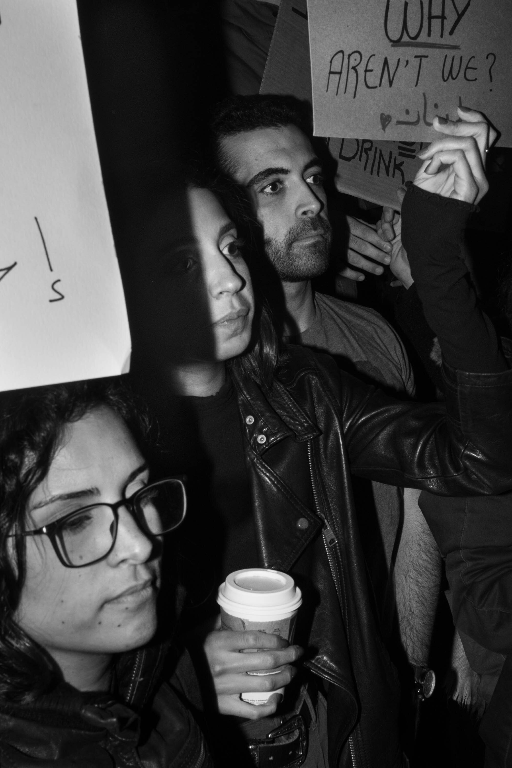
[[[512,146],[512,3],[308,0],[315,133],[432,141],[436,114],[484,112]]]

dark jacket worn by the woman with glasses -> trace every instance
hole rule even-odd
[[[0,766],[9,768],[212,768],[188,707],[193,671],[183,657],[158,682],[161,647],[125,654],[118,695],[83,694],[61,683],[27,705],[0,703]]]

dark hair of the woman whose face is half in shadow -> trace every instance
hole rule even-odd
[[[241,378],[255,381],[263,389],[272,389],[273,377],[282,359],[282,353],[272,312],[264,296],[263,285],[258,280],[261,265],[266,260],[259,243],[260,225],[243,190],[230,178],[210,171],[206,164],[201,167],[199,164],[192,165],[187,169],[186,177],[191,187],[210,190],[236,224],[238,236],[243,240],[243,258],[253,278],[256,306],[251,342],[245,352],[229,360],[227,365]]]

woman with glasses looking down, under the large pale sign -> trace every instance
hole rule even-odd
[[[144,422],[119,385],[0,408],[0,765],[210,765],[154,640],[183,482],[150,482]]]

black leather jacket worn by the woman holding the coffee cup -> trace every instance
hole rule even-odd
[[[319,599],[306,664],[329,684],[329,764],[401,766],[398,682],[368,596],[350,473],[441,495],[511,488],[512,371],[446,366],[445,404],[417,405],[363,385],[328,356],[289,350],[271,394],[233,376],[259,564],[289,571],[311,553]]]

